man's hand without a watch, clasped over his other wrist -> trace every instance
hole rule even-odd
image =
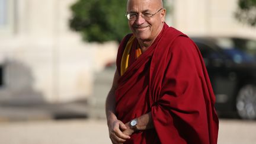
[[[108,120],[108,132],[112,143],[124,143],[130,139],[129,135],[125,135],[122,131],[126,130],[126,125],[117,119]]]

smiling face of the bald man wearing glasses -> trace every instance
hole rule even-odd
[[[139,41],[153,41],[161,32],[165,21],[165,9],[161,9],[161,0],[128,0],[127,12],[139,14],[136,20],[129,20],[130,30]],[[155,14],[149,20],[142,18],[141,14]]]

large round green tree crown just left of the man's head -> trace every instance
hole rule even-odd
[[[78,0],[71,10],[69,25],[85,41],[121,41],[130,33],[124,0]]]

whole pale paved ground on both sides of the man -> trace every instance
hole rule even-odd
[[[219,144],[256,143],[256,121],[220,120]],[[105,120],[39,120],[0,123],[3,144],[110,143]]]

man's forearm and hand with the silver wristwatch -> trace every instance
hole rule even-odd
[[[123,131],[123,133],[126,135],[132,135],[132,133],[140,130],[153,129],[154,125],[152,121],[151,112],[143,114],[140,117],[137,117],[137,130],[134,130],[132,129],[132,127],[130,127],[130,121],[126,123],[126,127],[127,129]]]

